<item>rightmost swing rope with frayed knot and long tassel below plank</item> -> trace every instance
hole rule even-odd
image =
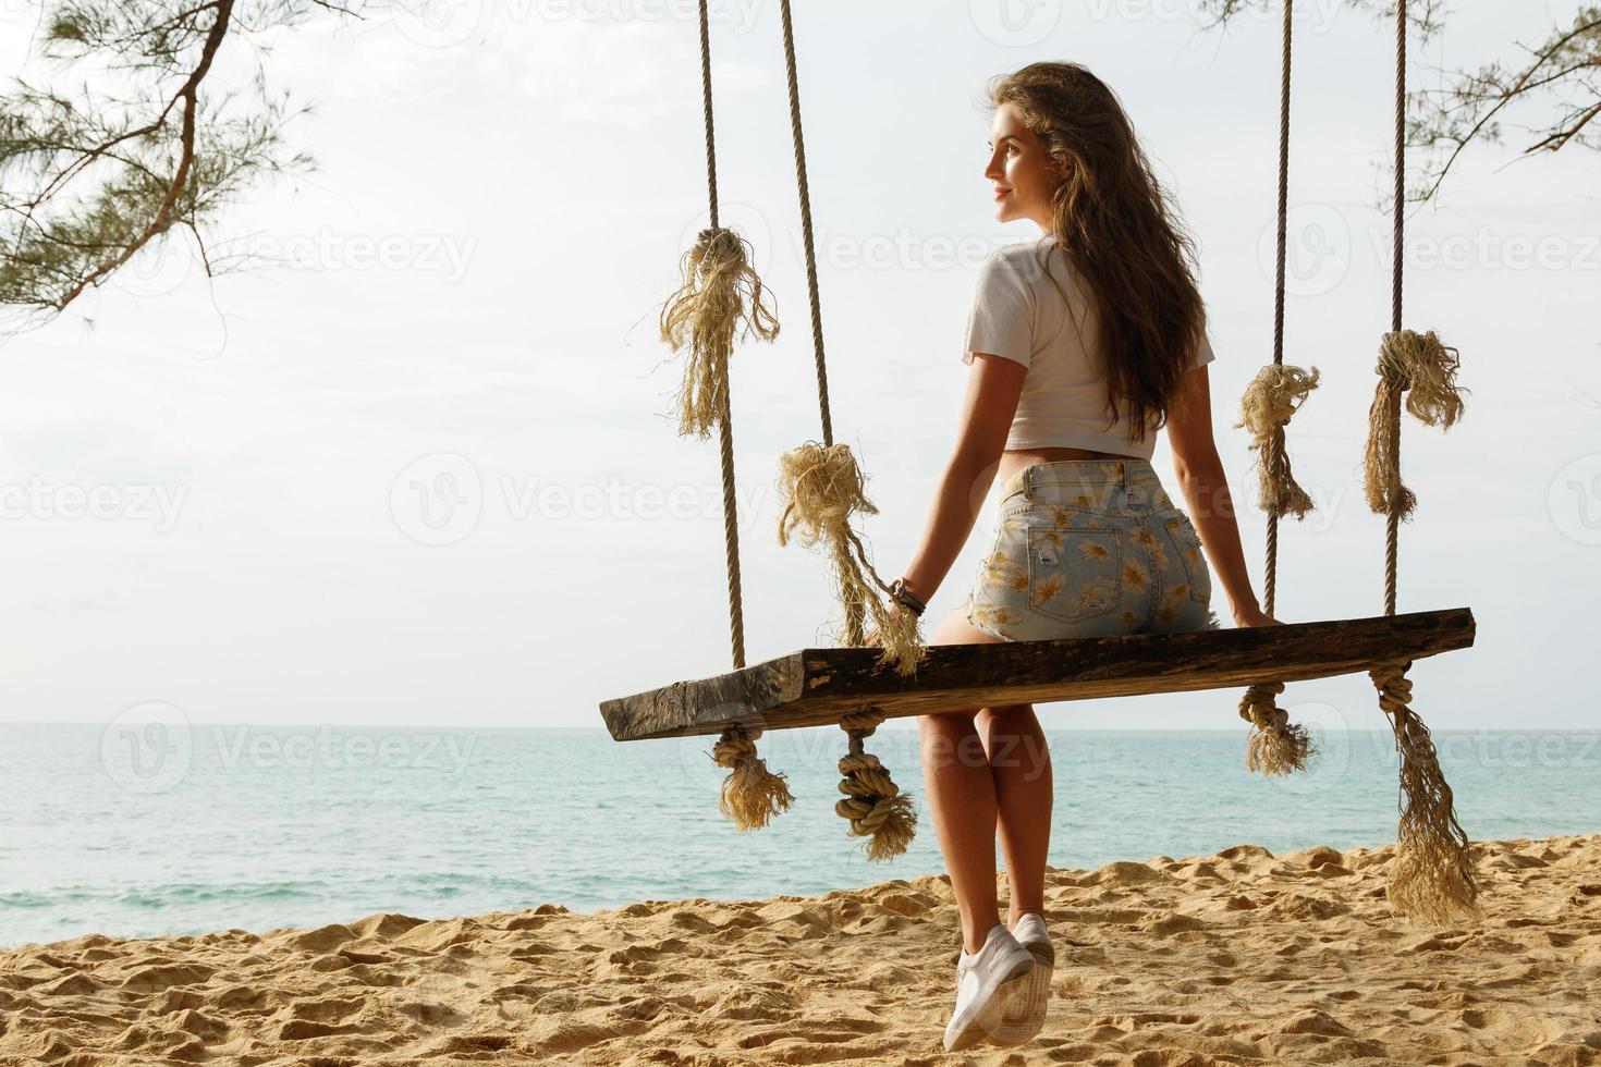
[[[1385,614],[1396,611],[1396,557],[1401,520],[1417,498],[1401,485],[1401,402],[1422,422],[1451,427],[1462,418],[1455,384],[1457,350],[1433,333],[1401,328],[1401,283],[1406,240],[1406,0],[1396,3],[1396,128],[1394,128],[1394,262],[1390,286],[1390,333],[1378,354],[1378,387],[1367,413],[1367,504],[1386,517]],[[1412,710],[1412,661],[1378,664],[1367,672],[1378,689],[1378,707],[1390,717],[1401,753],[1401,822],[1396,856],[1390,864],[1390,904],[1414,920],[1449,925],[1478,918],[1478,881],[1468,835],[1457,822],[1451,787],[1428,728]]]

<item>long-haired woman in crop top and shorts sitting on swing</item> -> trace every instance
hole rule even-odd
[[[996,218],[1042,237],[993,253],[962,360],[957,445],[900,608],[945,581],[1001,480],[996,544],[930,643],[1153,633],[1217,625],[1212,571],[1238,625],[1278,621],[1246,573],[1212,442],[1206,312],[1194,248],[1117,98],[1076,64],[996,78]],[[1167,427],[1194,523],[1150,459]],[[924,789],[962,918],[949,1051],[1017,1045],[1044,1025],[1053,952],[1044,923],[1050,757],[1029,704],[919,718]],[[999,829],[1010,915],[999,921]]]

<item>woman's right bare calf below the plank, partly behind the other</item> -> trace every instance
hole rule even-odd
[[[994,773],[1001,848],[1012,888],[1007,926],[1015,926],[1023,912],[1045,910],[1045,854],[1055,800],[1050,749],[1033,704],[986,707],[978,712],[977,728]]]

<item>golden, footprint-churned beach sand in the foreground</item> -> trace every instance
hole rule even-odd
[[[957,917],[922,877],[24,945],[0,1064],[1601,1064],[1601,835],[1475,843],[1460,929],[1390,917],[1393,851],[1052,869],[1053,1000],[1015,1049],[943,1053]]]

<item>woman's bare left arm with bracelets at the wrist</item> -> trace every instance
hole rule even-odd
[[[985,352],[973,355],[956,450],[940,475],[922,544],[903,573],[906,587],[924,603],[940,589],[956,557],[962,553],[978,509],[989,496],[1026,373],[1028,368],[1017,360]]]

